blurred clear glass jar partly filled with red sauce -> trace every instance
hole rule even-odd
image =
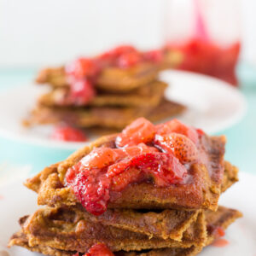
[[[166,5],[165,48],[179,55],[177,68],[236,85],[241,49],[238,0],[167,0]],[[168,64],[173,67],[172,58]]]

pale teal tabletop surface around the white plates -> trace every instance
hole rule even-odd
[[[240,90],[247,98],[247,114],[240,123],[218,134],[224,134],[228,139],[226,160],[230,160],[242,172],[256,174],[254,162],[256,160],[256,68],[241,64],[237,71],[241,81]],[[1,90],[32,83],[36,73],[37,70],[32,68],[0,70],[0,93]],[[72,152],[72,150],[39,147],[0,137],[0,165],[3,163],[15,166],[31,165],[34,173],[42,170],[44,166],[64,160]]]

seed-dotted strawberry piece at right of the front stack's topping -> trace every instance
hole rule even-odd
[[[173,154],[181,163],[194,162],[198,158],[197,148],[188,137],[175,132],[168,135],[156,135],[154,143],[163,152]]]

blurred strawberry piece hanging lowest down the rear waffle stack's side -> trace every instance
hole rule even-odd
[[[92,101],[96,90],[87,79],[75,79],[70,84],[70,99],[75,105],[84,105]]]

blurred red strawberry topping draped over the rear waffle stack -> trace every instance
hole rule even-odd
[[[95,83],[106,67],[126,69],[141,62],[158,63],[163,60],[161,49],[141,52],[131,45],[120,45],[92,58],[78,58],[67,63],[66,75],[70,84],[68,102],[83,106],[96,96]]]

